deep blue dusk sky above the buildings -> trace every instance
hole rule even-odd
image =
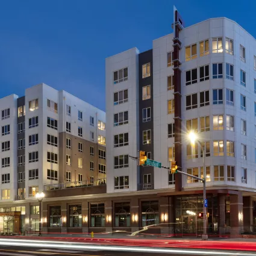
[[[0,1],[0,98],[43,82],[105,110],[105,58],[172,33],[173,4],[186,26],[225,16],[256,37],[256,3],[245,2]]]

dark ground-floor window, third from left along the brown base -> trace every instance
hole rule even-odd
[[[90,204],[90,210],[90,225],[95,227],[105,226],[105,205]]]

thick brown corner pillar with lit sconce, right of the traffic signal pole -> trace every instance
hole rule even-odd
[[[230,234],[236,236],[243,233],[243,196],[230,195]]]

